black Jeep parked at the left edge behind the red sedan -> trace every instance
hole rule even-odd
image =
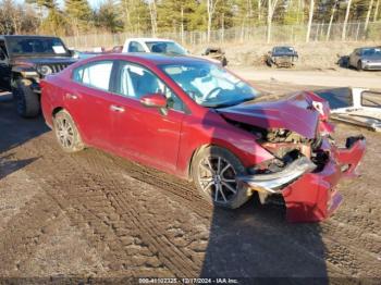
[[[12,91],[20,115],[36,116],[40,79],[75,61],[60,38],[0,36],[0,89]]]

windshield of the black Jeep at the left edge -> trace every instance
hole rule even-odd
[[[52,55],[69,55],[69,50],[65,48],[59,38],[9,38],[8,48],[12,54],[35,55],[35,54],[52,54]]]

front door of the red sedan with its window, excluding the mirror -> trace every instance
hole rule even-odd
[[[120,61],[115,72],[112,140],[124,156],[152,166],[174,172],[177,162],[184,106],[180,98],[152,72],[126,61]],[[147,94],[163,94],[167,112],[144,107],[139,99]]]

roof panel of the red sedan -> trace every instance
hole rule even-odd
[[[128,60],[133,62],[139,62],[147,65],[161,65],[161,64],[179,64],[179,63],[205,63],[209,62],[206,59],[200,59],[189,55],[167,55],[164,53],[150,53],[150,52],[125,52],[125,53],[108,53],[91,58],[95,60]]]

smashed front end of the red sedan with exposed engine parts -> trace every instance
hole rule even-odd
[[[262,107],[261,113],[266,114],[267,106]],[[285,107],[283,115],[287,111]],[[311,132],[305,132],[309,135],[307,137],[299,132],[280,127],[266,129],[263,125],[258,127],[248,124],[244,117],[239,120],[235,115],[233,120],[232,112],[225,115],[237,127],[251,132],[258,144],[273,156],[273,159],[250,168],[247,175],[236,177],[238,187],[248,194],[257,191],[261,203],[284,201],[290,222],[319,222],[330,216],[342,202],[342,196],[334,189],[337,182],[342,177],[356,175],[356,168],[365,153],[366,141],[362,136],[347,138],[343,148],[335,145],[329,134],[333,129],[328,122],[329,110],[323,107],[323,101],[315,100],[309,107],[304,106],[304,110],[314,108],[310,112],[320,113],[315,121],[314,137]],[[287,124],[293,126],[290,121]]]

